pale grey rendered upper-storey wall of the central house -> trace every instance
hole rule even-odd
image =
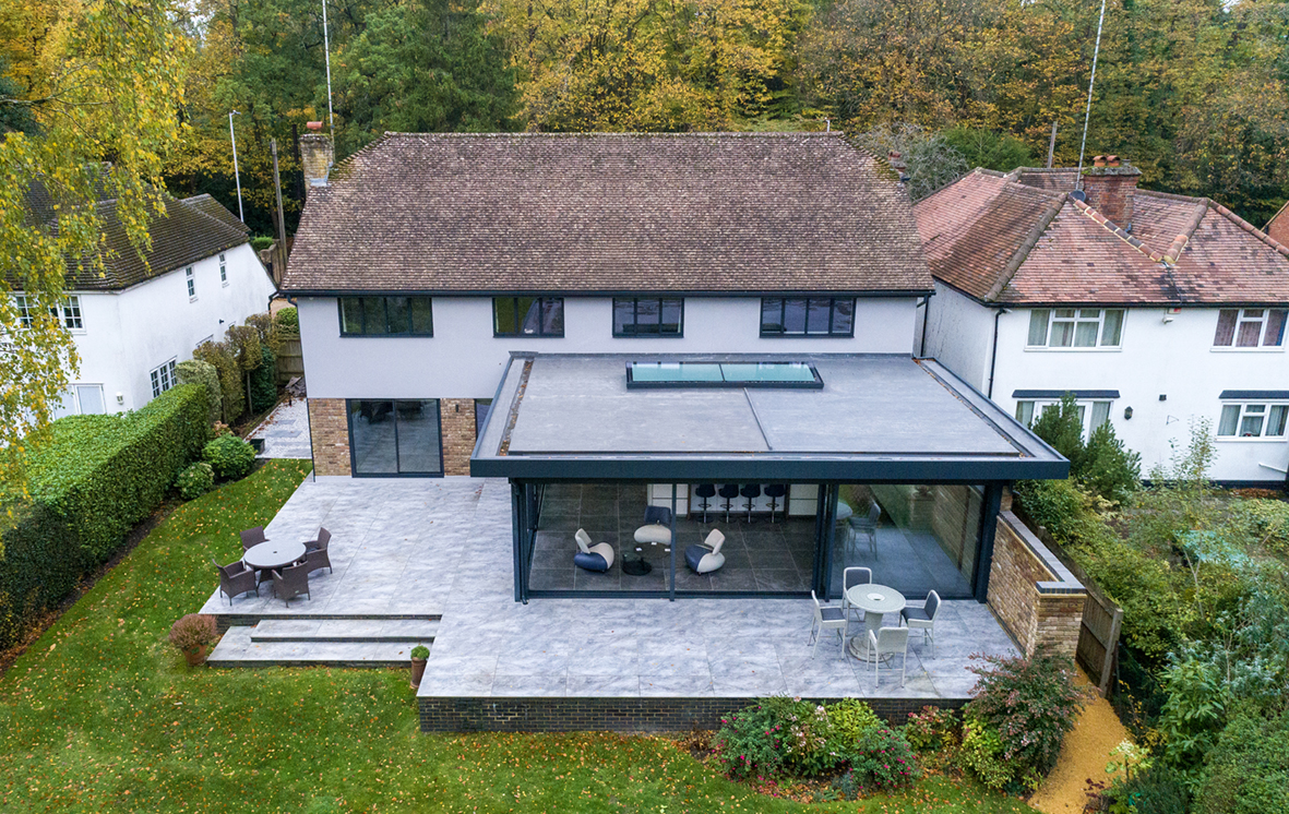
[[[861,299],[855,336],[762,339],[759,298],[686,298],[684,336],[617,339],[611,298],[565,298],[559,339],[492,336],[491,298],[434,298],[433,337],[340,336],[334,298],[299,298],[313,398],[492,398],[512,350],[539,353],[911,353],[914,299]]]

